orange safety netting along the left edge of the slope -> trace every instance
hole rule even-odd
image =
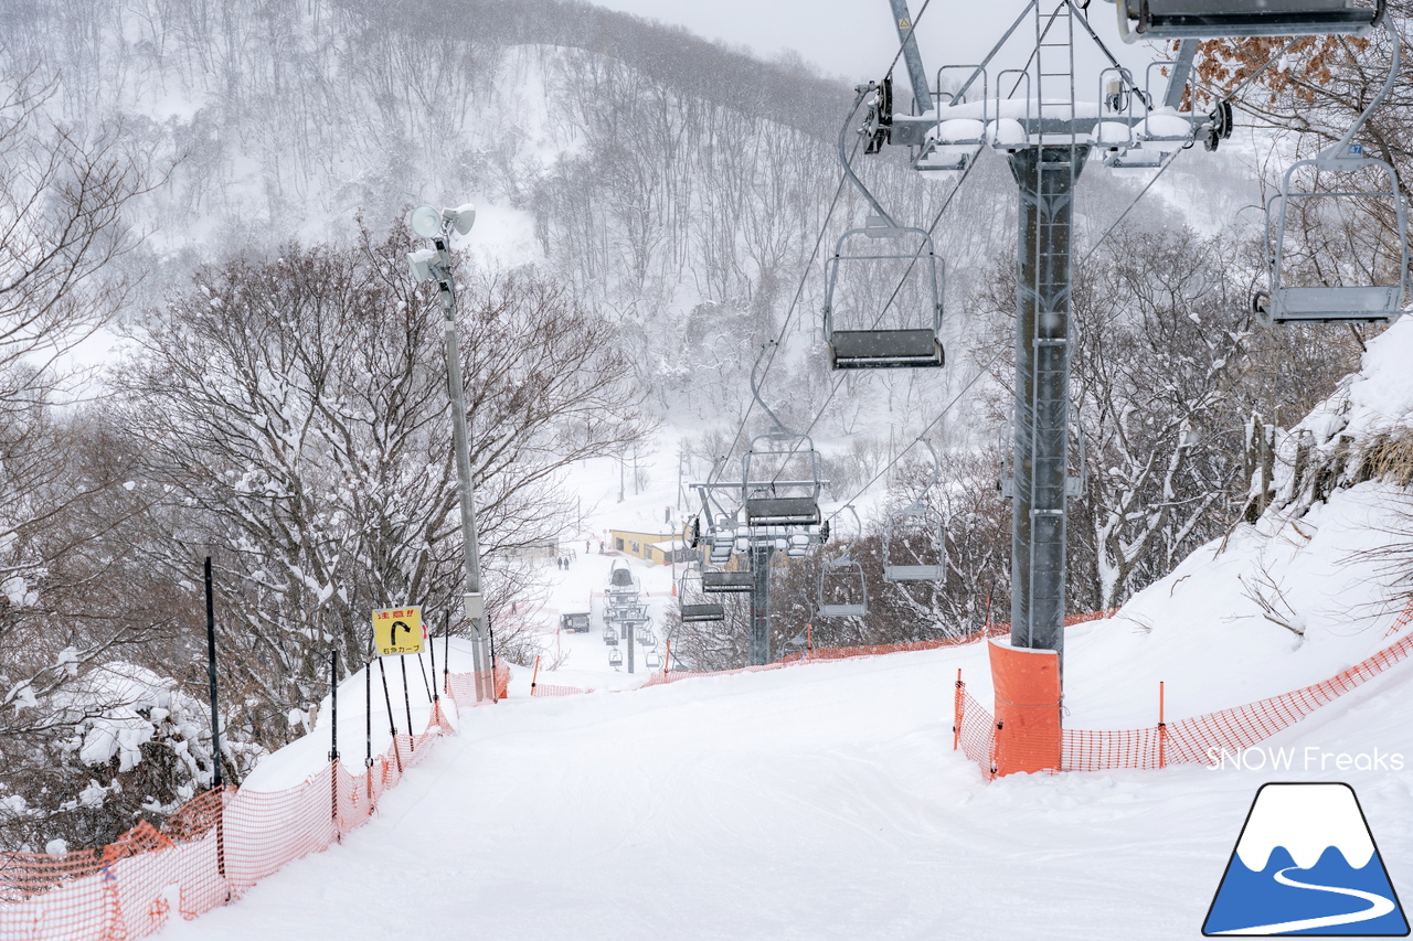
[[[447,685],[458,709],[476,705],[475,677],[452,674]],[[161,828],[143,821],[103,849],[0,853],[0,941],[140,938],[174,914],[195,918],[237,899],[366,822],[448,730],[438,702],[424,732],[394,736],[363,773],[332,760],[281,791],[206,791]]]

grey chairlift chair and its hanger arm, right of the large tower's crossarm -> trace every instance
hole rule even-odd
[[[1407,205],[1393,165],[1366,157],[1364,146],[1354,141],[1369,114],[1393,89],[1399,72],[1399,37],[1390,23],[1385,27],[1393,61],[1383,88],[1338,143],[1314,158],[1291,164],[1280,179],[1280,191],[1266,202],[1270,290],[1256,292],[1252,309],[1267,326],[1344,321],[1392,324],[1403,312],[1409,290]],[[1337,182],[1300,189],[1296,174],[1301,170],[1314,179],[1323,175]],[[1369,225],[1371,206],[1393,216],[1392,232],[1376,220]],[[1301,229],[1308,229],[1314,218],[1317,226],[1349,232],[1362,244],[1355,251],[1334,256],[1320,246],[1307,247],[1290,232],[1291,216],[1301,220]]]

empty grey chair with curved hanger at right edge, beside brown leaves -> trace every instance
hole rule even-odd
[[[1354,137],[1364,126],[1365,120],[1388,97],[1399,71],[1399,62],[1402,58],[1399,51],[1400,42],[1397,35],[1393,32],[1393,27],[1388,25],[1388,30],[1390,34],[1393,61],[1389,68],[1389,76],[1385,79],[1383,88],[1379,90],[1378,96],[1375,96],[1364,113],[1359,114],[1359,119],[1337,144],[1321,151],[1318,157],[1300,160],[1291,164],[1280,179],[1280,192],[1273,195],[1266,202],[1266,243],[1270,249],[1270,290],[1258,292],[1252,300],[1252,309],[1266,325],[1293,322],[1328,324],[1345,321],[1382,321],[1385,324],[1392,324],[1403,312],[1403,301],[1407,297],[1409,290],[1407,206],[1403,201],[1397,172],[1393,167],[1388,161],[1365,155],[1364,147],[1354,143]],[[1354,182],[1349,182],[1342,188],[1325,189],[1321,192],[1316,192],[1313,188],[1310,191],[1297,191],[1294,185],[1294,175],[1303,168],[1313,170],[1316,174],[1332,174],[1341,179]],[[1382,182],[1382,185],[1361,185],[1355,179],[1356,174],[1375,177]],[[1291,250],[1293,239],[1289,237],[1290,233],[1287,230],[1291,212],[1299,211],[1297,208],[1304,205],[1314,205],[1317,206],[1317,211],[1318,208],[1338,208],[1341,201],[1348,199],[1376,199],[1381,203],[1393,208],[1396,244],[1373,246],[1371,253],[1372,257],[1368,259],[1371,261],[1368,267],[1382,267],[1388,270],[1396,266],[1397,274],[1393,276],[1389,273],[1389,276],[1383,278],[1385,283],[1382,284],[1349,284],[1347,283],[1347,278],[1340,276],[1335,276],[1338,280],[1344,281],[1340,284],[1291,284],[1291,280],[1299,278],[1299,274],[1291,270],[1291,256],[1296,253]],[[1359,227],[1356,222],[1351,222],[1349,225],[1355,232],[1365,230]],[[1327,229],[1330,229],[1330,226],[1321,226],[1321,230]],[[1348,257],[1354,253],[1345,251],[1342,254]],[[1321,271],[1317,277],[1328,280],[1328,268],[1331,266],[1338,267],[1342,260],[1347,260],[1347,257],[1324,259],[1325,264],[1321,266]],[[1361,273],[1361,280],[1373,281],[1378,280],[1378,276],[1375,274],[1365,278]]]

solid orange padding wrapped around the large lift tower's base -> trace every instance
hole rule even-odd
[[[996,774],[1058,771],[1060,654],[991,641]]]

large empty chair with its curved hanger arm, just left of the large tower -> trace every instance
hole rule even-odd
[[[825,259],[824,341],[831,369],[917,369],[945,362],[942,350],[942,284],[945,267],[933,237],[900,226],[849,165],[848,130],[869,95],[885,97],[875,83],[856,88],[853,109],[839,129],[838,155],[844,174],[873,208],[862,227],[848,229]],[[875,110],[883,107],[875,103]],[[916,239],[916,247],[910,247]],[[848,266],[851,276],[841,271]],[[841,318],[841,311],[845,316]]]

